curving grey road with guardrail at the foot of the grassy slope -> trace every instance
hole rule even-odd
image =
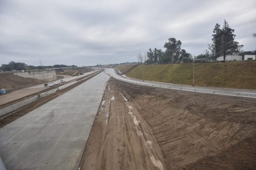
[[[211,93],[211,94],[219,94],[219,95],[227,95],[227,96],[256,98],[256,90],[189,86],[189,85],[182,85],[182,84],[142,81],[142,80],[137,80],[137,79],[132,79],[132,78],[126,77],[125,75],[123,75],[123,76],[118,75],[115,73],[113,68],[107,68],[106,73],[112,75],[116,79],[126,81],[129,83],[134,83],[134,84],[155,86],[155,87],[175,89],[175,90],[184,90],[184,91],[191,91],[191,92],[201,92],[201,93]]]

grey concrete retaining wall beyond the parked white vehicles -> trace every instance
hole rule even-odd
[[[44,70],[44,71],[25,71],[25,72],[14,72],[14,75],[33,78],[38,80],[53,81],[56,80],[55,70]]]

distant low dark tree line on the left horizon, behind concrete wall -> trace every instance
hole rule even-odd
[[[13,70],[36,70],[36,69],[46,69],[46,68],[61,68],[61,67],[77,67],[76,65],[64,65],[56,64],[49,66],[33,66],[27,65],[24,62],[14,62],[10,61],[8,64],[2,64],[0,70],[3,71],[13,71]]]

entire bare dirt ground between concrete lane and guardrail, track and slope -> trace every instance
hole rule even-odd
[[[82,161],[84,170],[255,167],[255,99],[117,80],[110,80]]]

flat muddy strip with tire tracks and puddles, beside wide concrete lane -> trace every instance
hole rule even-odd
[[[161,155],[152,151],[156,144],[146,141],[145,129],[136,117],[138,113],[132,102],[128,104],[126,100],[110,80],[84,151],[81,169],[164,169],[159,164]]]

